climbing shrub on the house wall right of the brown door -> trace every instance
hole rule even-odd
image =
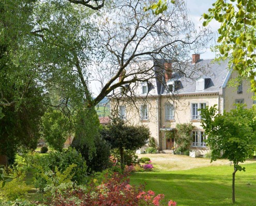
[[[184,123],[184,124],[177,124],[176,128],[177,128],[177,133],[175,135],[175,142],[178,144],[178,148],[180,149],[180,151],[184,152],[185,150],[189,149],[191,145],[191,142],[192,142],[191,132],[194,126],[192,123]]]

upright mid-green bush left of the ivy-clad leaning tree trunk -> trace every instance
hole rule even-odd
[[[69,134],[69,119],[59,110],[50,110],[42,117],[41,134],[55,150],[62,151]]]

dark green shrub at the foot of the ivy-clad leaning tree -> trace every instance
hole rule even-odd
[[[78,140],[74,139],[72,147],[78,149],[81,152],[83,158],[86,160],[86,164],[91,171],[102,171],[111,166],[110,162],[110,145],[101,138],[96,138],[95,147],[96,152],[90,155],[89,145],[84,144],[81,146]]]

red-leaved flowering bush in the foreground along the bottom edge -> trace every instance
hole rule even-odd
[[[143,192],[142,187],[131,186],[127,178],[129,174],[128,170],[125,170],[124,174],[114,173],[111,177],[106,176],[106,179],[100,185],[92,181],[86,190],[75,189],[67,191],[64,195],[56,195],[48,205],[159,206],[164,195],[155,195],[153,191]],[[176,202],[172,200],[169,203],[169,206],[176,205]]]

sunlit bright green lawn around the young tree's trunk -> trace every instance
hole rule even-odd
[[[256,164],[246,164],[237,171],[236,204],[232,204],[231,166],[209,166],[179,171],[134,173],[130,184],[144,184],[146,190],[164,194],[165,203],[172,199],[178,206],[191,205],[256,205]],[[167,204],[166,204],[167,205]]]

